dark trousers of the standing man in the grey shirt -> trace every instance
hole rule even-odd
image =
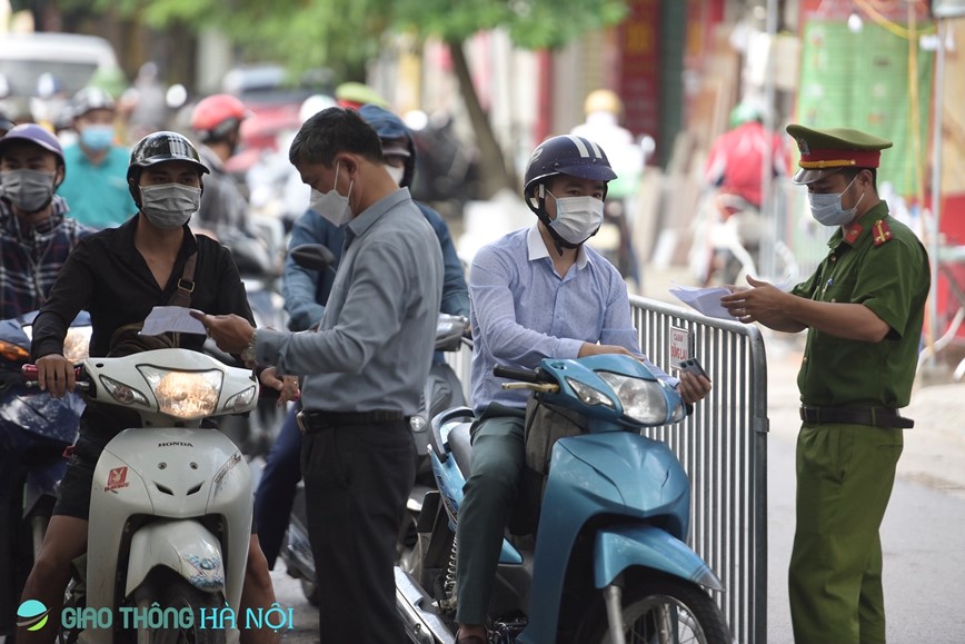
[[[301,472],[322,644],[400,644],[392,566],[416,478],[406,420],[306,434]]]

